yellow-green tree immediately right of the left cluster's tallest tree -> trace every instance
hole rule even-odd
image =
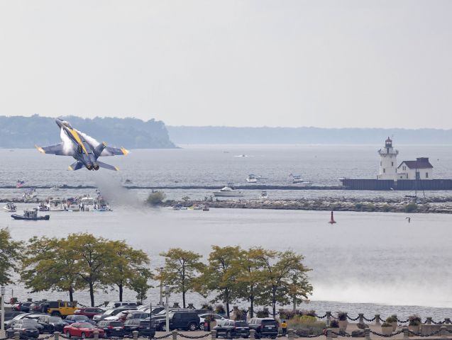
[[[108,263],[105,283],[118,286],[119,301],[123,300],[123,289],[131,287],[131,280],[136,276],[142,276],[147,281],[151,278],[148,255],[142,250],[135,250],[125,241],[107,241],[111,261]]]

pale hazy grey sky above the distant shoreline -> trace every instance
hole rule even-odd
[[[452,128],[452,1],[0,1],[0,115]]]

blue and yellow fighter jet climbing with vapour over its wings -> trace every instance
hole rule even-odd
[[[56,154],[57,156],[72,156],[77,162],[69,166],[69,170],[78,170],[83,167],[88,170],[99,170],[99,168],[118,171],[116,166],[111,166],[100,162],[97,159],[101,156],[126,155],[128,151],[116,147],[107,147],[105,142],[100,144],[93,138],[84,135],[82,132],[72,128],[70,123],[59,118],[55,119],[55,123],[60,127],[60,136],[62,142],[48,147],[38,147],[36,149],[43,154]],[[89,140],[89,141],[88,141]]]

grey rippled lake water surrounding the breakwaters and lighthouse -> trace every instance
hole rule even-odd
[[[451,147],[398,147],[399,161],[427,156],[435,167],[436,178],[452,178]],[[130,157],[110,157],[104,162],[122,171],[65,171],[69,157],[42,155],[35,150],[0,150],[0,186],[14,185],[17,179],[28,185],[87,185],[101,188],[113,204],[114,212],[51,212],[48,222],[13,221],[0,214],[0,227],[9,227],[15,239],[34,235],[64,237],[71,232],[92,232],[128,243],[150,254],[153,268],[162,260],[161,251],[180,246],[206,256],[212,244],[269,249],[293,249],[306,257],[313,268],[312,302],[305,308],[346,310],[352,316],[364,312],[373,317],[412,312],[435,319],[452,316],[452,252],[450,215],[338,212],[336,225],[329,225],[329,212],[279,210],[174,211],[142,208],[140,202],[149,191],[126,190],[121,180],[131,179],[138,186],[218,185],[226,181],[246,184],[250,173],[263,176],[265,183],[286,185],[289,174],[301,174],[316,185],[337,185],[341,176],[374,178],[377,146],[300,146],[300,147],[189,147],[174,150],[133,150]],[[227,153],[225,153],[227,152]],[[250,157],[234,157],[247,154]],[[165,191],[169,198],[183,195],[202,198],[208,191]],[[74,196],[94,190],[57,193],[39,189],[38,196]],[[258,196],[247,191],[246,196]],[[316,196],[395,197],[397,192],[351,191],[270,191],[270,198]],[[448,192],[427,195],[450,196]],[[1,189],[0,197],[19,197],[20,189]],[[31,207],[32,205],[27,205]],[[26,205],[20,205],[19,209]],[[17,285],[14,295],[32,296]],[[53,293],[65,298],[64,293]],[[34,294],[33,297],[43,297]],[[88,296],[76,298],[87,304]],[[134,295],[126,292],[126,298]],[[158,301],[158,288],[150,291]],[[116,300],[116,293],[97,293],[97,301]],[[170,301],[180,301],[177,295]],[[204,299],[193,294],[189,302]],[[407,307],[409,306],[409,307]],[[418,307],[414,307],[418,306]],[[419,307],[421,306],[421,307]]]

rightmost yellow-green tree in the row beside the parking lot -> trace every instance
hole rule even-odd
[[[256,258],[262,268],[261,285],[263,289],[258,301],[272,306],[273,317],[276,317],[276,304],[287,305],[293,297],[306,297],[312,293],[307,272],[311,269],[303,265],[304,256],[294,251],[272,251],[256,248]],[[299,285],[296,293],[291,288]]]

